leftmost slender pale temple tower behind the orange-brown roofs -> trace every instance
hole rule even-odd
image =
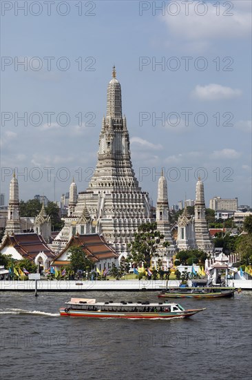
[[[10,181],[10,198],[8,205],[8,218],[6,222],[6,230],[4,232],[3,239],[7,234],[20,234],[21,225],[19,217],[19,183],[15,172],[13,173],[12,180]]]

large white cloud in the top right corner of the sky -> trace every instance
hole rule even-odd
[[[249,1],[248,1],[249,2]],[[233,9],[229,9],[231,1],[224,5],[220,3],[220,15],[217,6],[213,2],[193,1],[189,4],[189,12],[185,11],[185,3],[177,2],[180,12],[176,16],[169,15],[176,10],[167,10],[165,16],[160,16],[165,21],[169,32],[176,37],[184,38],[186,41],[202,41],[212,39],[237,39],[249,36],[251,33],[251,9],[243,6],[236,7],[235,1]],[[204,3],[204,6],[200,3]],[[199,15],[199,14],[202,15]],[[233,14],[233,15],[231,15]],[[207,46],[207,44],[204,44]]]

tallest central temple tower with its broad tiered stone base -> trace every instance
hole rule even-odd
[[[122,112],[116,70],[107,86],[107,114],[103,117],[98,162],[85,191],[77,193],[74,180],[65,225],[54,239],[60,251],[76,234],[101,234],[118,255],[125,255],[139,225],[150,221],[148,193],[139,187],[132,168],[129,132]]]

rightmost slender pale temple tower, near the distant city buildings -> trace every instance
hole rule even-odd
[[[198,249],[202,249],[202,251],[211,253],[213,251],[213,243],[210,240],[207,227],[204,205],[204,184],[200,178],[198,178],[198,182],[196,183],[196,201],[194,209],[196,246]]]

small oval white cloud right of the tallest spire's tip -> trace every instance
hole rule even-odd
[[[233,99],[242,95],[238,88],[221,86],[220,84],[207,84],[206,86],[197,85],[191,92],[191,96],[198,100],[222,100]]]

